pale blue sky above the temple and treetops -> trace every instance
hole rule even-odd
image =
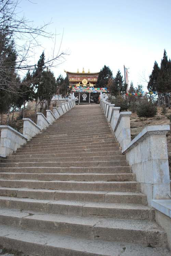
[[[61,50],[69,49],[66,62],[53,68],[55,77],[64,69],[71,72],[98,72],[104,65],[116,75],[123,65],[129,68],[129,81],[134,87],[152,72],[154,61],[158,64],[164,48],[171,57],[171,1],[170,0],[23,0],[19,5],[35,25],[52,24],[47,30],[59,34],[56,51],[64,36]],[[45,56],[50,56],[53,43],[41,40]],[[37,63],[43,49],[35,50]],[[129,82],[129,83],[130,83]],[[144,84],[145,86],[145,84]],[[144,87],[145,89],[145,87]]]

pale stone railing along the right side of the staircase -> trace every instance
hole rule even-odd
[[[100,101],[111,129],[126,155],[142,193],[150,207],[155,208],[156,221],[165,229],[171,248],[171,192],[166,134],[169,125],[146,126],[131,141],[131,112],[119,112],[118,107]]]

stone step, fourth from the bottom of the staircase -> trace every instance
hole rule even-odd
[[[72,200],[86,202],[147,204],[147,198],[140,192],[108,192],[84,190],[49,190],[0,187],[0,196],[34,198],[46,200]]]

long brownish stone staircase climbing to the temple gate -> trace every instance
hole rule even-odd
[[[34,256],[171,255],[99,105],[77,105],[0,167],[0,246]]]

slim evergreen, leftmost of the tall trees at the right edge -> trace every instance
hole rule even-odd
[[[149,82],[147,85],[147,89],[149,92],[157,90],[156,87],[157,87],[157,79],[158,79],[159,72],[160,72],[160,68],[155,60],[152,74],[149,76]]]

